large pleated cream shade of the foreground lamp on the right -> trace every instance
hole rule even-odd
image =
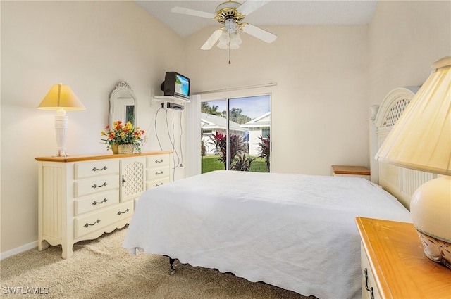
[[[432,68],[375,158],[451,175],[451,56],[440,59]]]

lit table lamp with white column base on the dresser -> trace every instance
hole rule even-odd
[[[66,110],[85,110],[85,106],[83,106],[67,85],[56,84],[51,87],[37,108],[56,110],[55,131],[58,153],[54,157],[67,157],[66,132],[68,128],[68,117],[66,116]]]

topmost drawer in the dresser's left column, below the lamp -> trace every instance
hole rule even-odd
[[[119,174],[118,160],[97,160],[76,163],[74,167],[75,179],[98,177],[106,174]]]

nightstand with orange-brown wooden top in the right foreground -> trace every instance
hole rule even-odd
[[[413,224],[356,218],[362,238],[362,298],[451,298],[451,269],[433,262]],[[368,291],[367,291],[368,290]]]

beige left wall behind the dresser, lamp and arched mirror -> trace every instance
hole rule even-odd
[[[69,154],[107,153],[100,132],[123,80],[151,136],[144,149],[159,149],[149,90],[184,71],[182,52],[183,39],[132,1],[1,1],[1,253],[37,240],[34,158],[56,153],[55,113],[37,106],[51,85],[68,84],[86,107],[67,113]],[[159,128],[171,150],[163,114]]]

